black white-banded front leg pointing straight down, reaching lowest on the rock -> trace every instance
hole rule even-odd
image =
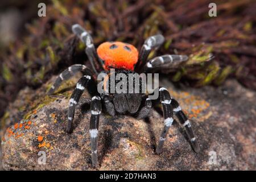
[[[90,147],[92,149],[92,166],[97,167],[98,164],[98,123],[101,114],[101,98],[94,96],[90,104],[91,117],[90,117]]]

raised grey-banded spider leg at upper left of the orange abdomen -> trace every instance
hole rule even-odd
[[[80,40],[85,44],[85,53],[88,56],[90,64],[92,65],[94,73],[98,74],[96,68],[103,70],[102,60],[98,57],[96,49],[93,44],[92,36],[80,24],[74,24],[72,26],[72,32],[76,34]]]

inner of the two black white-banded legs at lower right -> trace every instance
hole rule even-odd
[[[163,115],[164,115],[164,128],[160,135],[158,146],[156,147],[156,154],[160,154],[163,151],[164,140],[168,134],[172,122],[174,121],[174,113],[172,112],[171,106],[171,96],[166,88],[160,87],[160,101],[163,106]]]

